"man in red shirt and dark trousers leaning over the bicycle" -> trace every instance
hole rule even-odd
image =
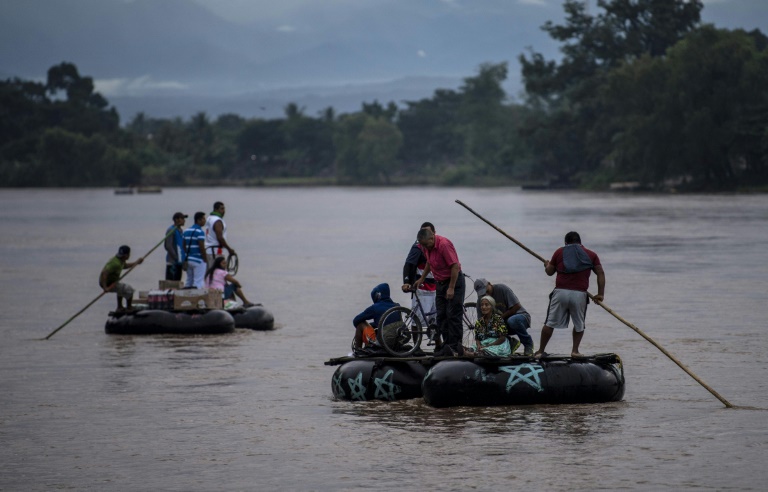
[[[435,348],[435,355],[462,355],[461,322],[466,285],[456,248],[448,238],[436,235],[429,228],[420,229],[416,240],[427,259],[427,266],[414,287],[418,289],[430,272],[437,282],[437,326],[444,344],[440,349]]]

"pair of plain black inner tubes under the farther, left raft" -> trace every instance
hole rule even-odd
[[[112,335],[216,335],[235,328],[269,331],[275,318],[263,306],[229,310],[136,309],[111,312],[104,331]]]

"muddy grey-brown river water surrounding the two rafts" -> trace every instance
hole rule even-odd
[[[623,401],[433,409],[335,401],[324,362],[379,282],[396,287],[421,222],[464,271],[511,286],[538,337],[569,230],[606,271],[605,303],[733,403],[726,408],[598,306],[585,353],[624,362]],[[273,332],[112,336],[100,290],[174,212],[227,206],[237,277]],[[529,192],[516,188],[0,190],[0,490],[765,490],[768,196]],[[163,277],[159,248],[125,281]],[[594,276],[592,292],[596,291]],[[408,298],[394,289],[394,298]],[[474,300],[474,299],[471,299]],[[556,331],[547,351],[568,353]]]

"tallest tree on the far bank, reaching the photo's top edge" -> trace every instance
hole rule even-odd
[[[557,181],[583,178],[611,152],[610,135],[594,124],[605,111],[600,88],[610,71],[664,55],[698,25],[702,3],[598,0],[597,7],[602,12],[593,16],[586,2],[567,0],[565,24],[544,25],[562,43],[559,63],[537,53],[519,57],[528,104],[543,112],[523,131]]]

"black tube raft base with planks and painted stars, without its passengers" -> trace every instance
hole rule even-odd
[[[490,357],[341,357],[334,397],[347,401],[423,397],[433,407],[604,403],[624,396],[616,354]]]

